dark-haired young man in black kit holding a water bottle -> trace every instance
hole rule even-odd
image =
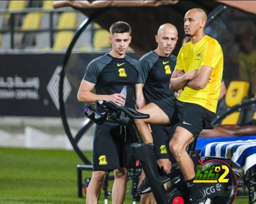
[[[125,22],[116,22],[110,27],[112,51],[94,59],[88,65],[78,90],[80,102],[96,100],[112,101],[118,106],[140,108],[144,105],[141,67],[138,61],[128,57],[126,51],[131,42],[131,28]],[[127,86],[126,100],[120,94]],[[96,94],[92,92],[93,88]],[[134,96],[135,93],[135,96]],[[135,98],[135,100],[134,100]],[[97,107],[99,112],[104,112]],[[86,204],[97,204],[106,173],[114,170],[112,203],[122,204],[126,193],[126,178],[129,168],[136,165],[130,143],[130,132],[125,127],[106,121],[96,126],[93,144],[93,173],[86,194]]]

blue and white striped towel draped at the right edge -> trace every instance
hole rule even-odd
[[[201,157],[231,159],[244,172],[256,165],[256,139],[212,142],[205,145]]]

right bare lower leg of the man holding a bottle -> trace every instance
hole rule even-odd
[[[123,204],[126,194],[126,179],[128,169],[119,168],[114,170],[114,184],[112,188],[112,204]]]

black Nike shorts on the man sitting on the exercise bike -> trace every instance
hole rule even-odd
[[[177,98],[167,98],[154,101],[161,108],[172,125],[180,126],[190,131],[196,138],[205,126],[211,124],[215,113],[193,103],[181,102]]]

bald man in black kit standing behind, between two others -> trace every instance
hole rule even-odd
[[[147,104],[155,100],[174,96],[174,92],[169,89],[169,84],[176,65],[177,57],[171,53],[178,40],[178,31],[172,24],[163,24],[159,27],[155,39],[158,47],[154,51],[146,53],[139,60],[142,68],[142,90]],[[164,171],[169,173],[171,170],[171,161],[168,151],[172,127],[170,125],[152,124],[150,128],[158,165],[164,167]],[[142,171],[140,181],[144,178],[145,174]],[[167,186],[167,183],[165,186]],[[140,203],[148,204],[151,196],[152,193],[142,194]],[[152,199],[151,203],[155,203],[155,200]]]

